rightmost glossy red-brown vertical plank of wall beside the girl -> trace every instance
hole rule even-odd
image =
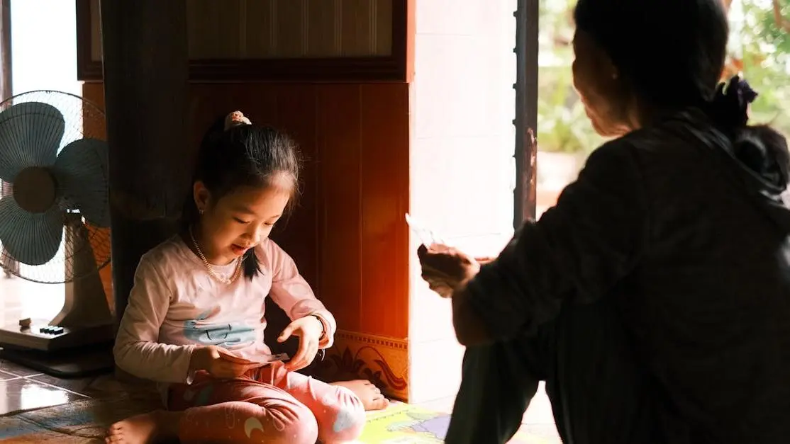
[[[409,121],[408,114],[396,114],[387,108],[408,110],[408,91],[371,84],[361,90],[363,304],[359,331],[405,335],[408,329],[402,329],[408,327],[408,309],[393,306],[391,298],[408,295],[408,229],[404,215],[408,212]],[[384,315],[381,308],[388,306],[393,310]]]

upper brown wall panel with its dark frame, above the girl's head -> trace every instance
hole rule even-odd
[[[102,80],[100,0],[77,2],[77,78]],[[187,0],[190,80],[412,79],[414,0]]]

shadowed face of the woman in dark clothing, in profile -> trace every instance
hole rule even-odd
[[[574,88],[592,128],[601,136],[622,136],[630,131],[628,94],[611,58],[578,29],[574,35],[574,54]]]

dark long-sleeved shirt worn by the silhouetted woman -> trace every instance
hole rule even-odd
[[[678,442],[790,442],[790,211],[694,110],[604,144],[469,284],[495,338],[617,300]],[[680,437],[679,437],[680,438]]]

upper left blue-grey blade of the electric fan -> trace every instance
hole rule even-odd
[[[55,163],[65,130],[63,114],[47,103],[19,103],[0,113],[0,179],[13,183],[28,166]]]

